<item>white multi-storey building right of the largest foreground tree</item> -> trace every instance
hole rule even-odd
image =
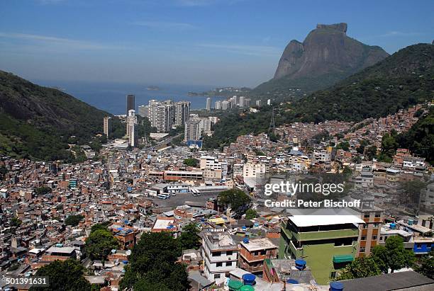
[[[226,280],[226,273],[235,270],[238,246],[228,232],[207,232],[202,239],[204,275],[216,284]]]

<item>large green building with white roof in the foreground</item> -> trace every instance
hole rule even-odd
[[[355,215],[294,215],[282,224],[279,258],[303,258],[319,284],[357,256],[359,224]]]

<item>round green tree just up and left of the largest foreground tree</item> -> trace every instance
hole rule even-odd
[[[118,240],[107,229],[96,229],[86,239],[86,253],[92,260],[105,261],[118,246]]]

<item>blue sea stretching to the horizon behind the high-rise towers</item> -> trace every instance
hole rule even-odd
[[[79,100],[114,115],[126,114],[126,95],[135,95],[135,109],[139,105],[148,105],[148,101],[172,100],[190,101],[191,109],[206,108],[205,96],[188,96],[189,91],[204,92],[213,89],[211,86],[187,86],[168,84],[121,84],[102,83],[87,81],[35,81],[36,84],[62,89]],[[148,90],[148,86],[158,86],[159,91]],[[211,97],[211,107],[218,100],[225,100],[226,97]]]

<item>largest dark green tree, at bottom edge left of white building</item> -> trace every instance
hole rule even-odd
[[[176,263],[179,241],[167,232],[143,234],[130,256],[120,289],[188,290],[186,266]]]

